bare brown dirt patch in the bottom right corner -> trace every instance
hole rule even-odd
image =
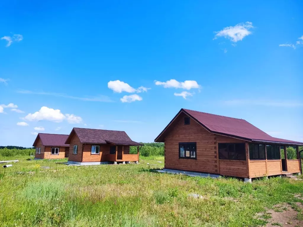
[[[297,202],[296,205],[299,208],[303,208],[300,202]],[[267,227],[277,227],[277,226],[303,226],[303,221],[297,219],[298,212],[295,209],[291,208],[289,204],[278,204],[275,205],[273,209],[269,209],[265,214],[258,214],[259,216],[270,215],[271,218],[267,219]],[[262,219],[262,218],[261,218]]]

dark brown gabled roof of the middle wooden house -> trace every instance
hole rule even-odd
[[[66,143],[70,143],[73,135],[76,134],[80,143],[112,143],[119,145],[142,145],[132,141],[125,131],[88,129],[88,128],[73,128],[69,134]]]

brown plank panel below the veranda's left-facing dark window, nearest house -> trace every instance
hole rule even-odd
[[[220,174],[248,178],[246,161],[219,160]]]

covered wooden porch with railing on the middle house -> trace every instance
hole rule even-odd
[[[107,161],[110,162],[135,162],[138,163],[139,161],[139,150],[141,146],[143,146],[142,143],[137,142],[129,142],[129,141],[108,141],[106,140],[108,144],[110,144],[110,151],[109,154],[107,154]],[[137,147],[137,153],[136,154],[129,154],[130,146],[136,146]],[[127,149],[127,152],[125,152],[125,148]]]

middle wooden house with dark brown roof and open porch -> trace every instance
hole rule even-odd
[[[124,131],[87,128],[73,128],[65,143],[69,144],[68,163],[78,165],[138,162],[143,145]],[[129,154],[130,146],[137,146],[137,154]]]

